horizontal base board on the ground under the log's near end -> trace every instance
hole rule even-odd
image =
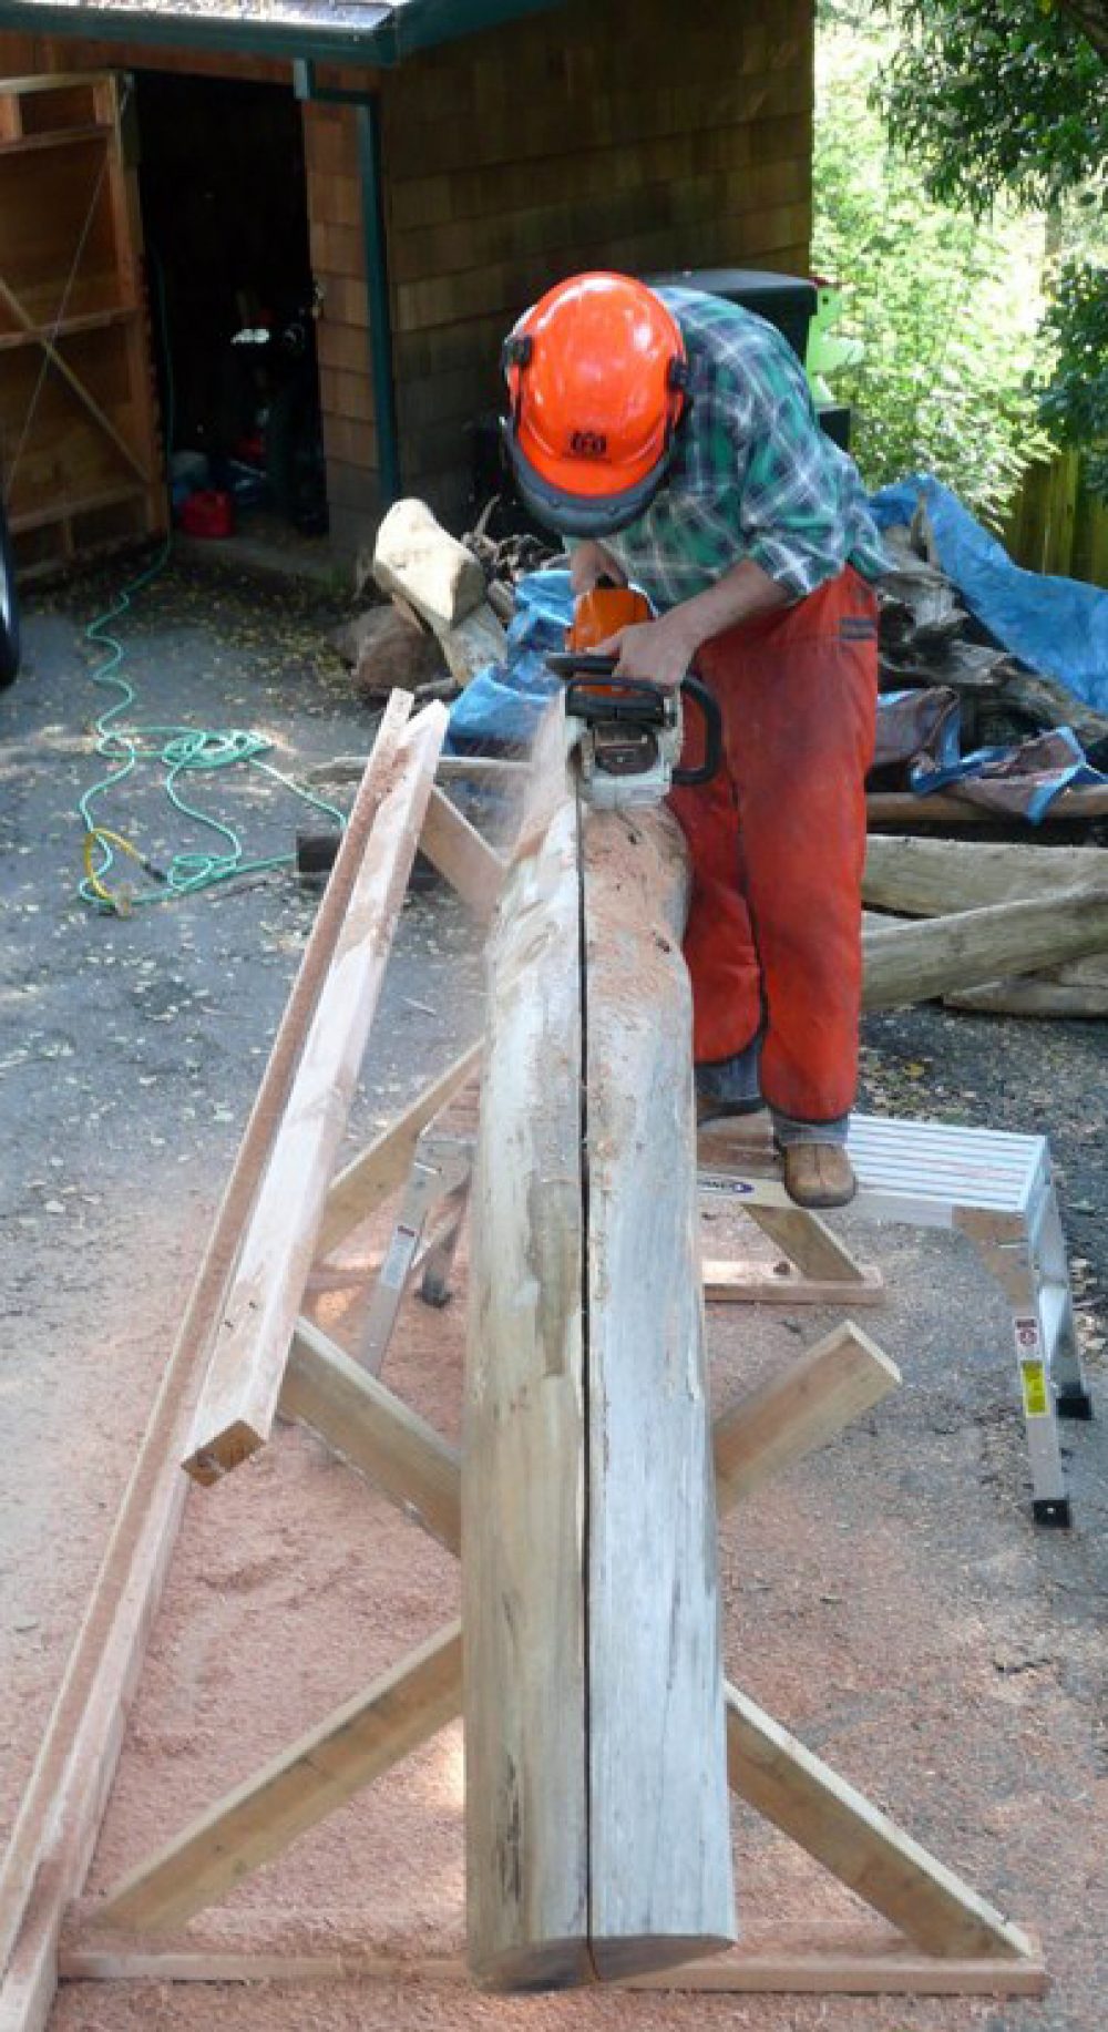
[[[337,1951],[283,1953],[209,1947],[91,1945],[79,1934],[61,1953],[61,1975],[73,1983],[417,1983],[421,1989],[464,1983],[461,1955],[376,1955],[354,1943]],[[634,1975],[616,1989],[716,1995],[917,1995],[917,1997],[1043,1997],[1049,1989],[1041,1959],[939,1959],[878,1943],[829,1941],[825,1947],[738,1949],[712,1961],[685,1963],[665,1975]]]

